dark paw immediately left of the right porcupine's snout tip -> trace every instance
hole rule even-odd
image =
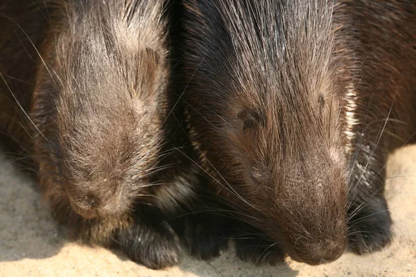
[[[236,254],[245,261],[254,265],[277,265],[284,262],[284,252],[279,245],[270,244],[261,238],[236,238]]]

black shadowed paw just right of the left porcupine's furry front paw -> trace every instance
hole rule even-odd
[[[188,220],[184,231],[184,244],[189,255],[210,260],[220,256],[227,249],[228,239],[226,233],[218,222],[210,216],[200,215],[198,220]]]

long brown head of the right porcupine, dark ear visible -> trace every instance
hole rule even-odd
[[[347,245],[331,12],[316,5],[185,6],[185,98],[206,169],[246,222],[311,265],[336,260]]]

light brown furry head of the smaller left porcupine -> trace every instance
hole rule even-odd
[[[119,217],[138,195],[150,196],[144,187],[162,137],[166,53],[146,32],[151,24],[132,31],[139,23],[131,14],[140,9],[124,7],[118,20],[114,7],[64,9],[43,53],[31,111],[35,154],[45,157],[41,184],[56,206],[87,219]]]

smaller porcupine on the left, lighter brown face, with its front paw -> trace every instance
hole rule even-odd
[[[169,118],[168,2],[6,2],[1,132],[33,158],[46,201],[80,240],[174,265],[166,219],[197,179],[173,151],[182,128]]]

